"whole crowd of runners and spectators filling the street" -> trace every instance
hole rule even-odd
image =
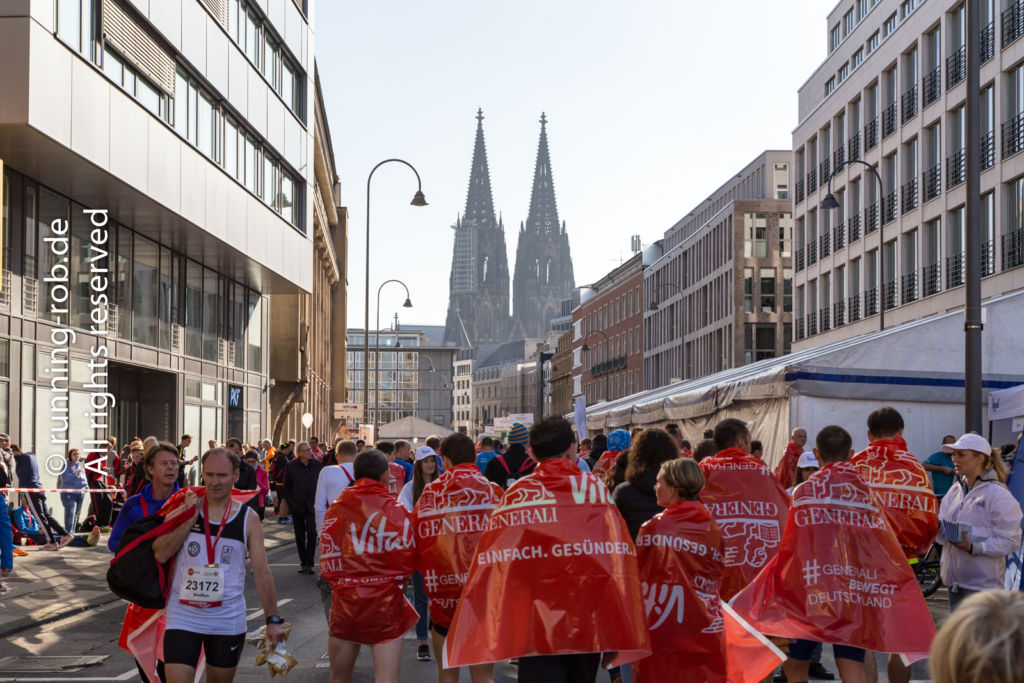
[[[822,645],[844,681],[873,681],[874,652],[890,654],[889,680],[907,681],[907,658],[930,648],[936,680],[1017,680],[1007,648],[1024,641],[1024,622],[1013,621],[1024,606],[999,591],[1022,511],[1004,454],[969,433],[921,462],[903,429],[897,411],[879,409],[868,446],[854,453],[841,427],[813,439],[798,427],[774,470],[735,419],[695,447],[673,424],[578,440],[557,417],[513,424],[506,443],[453,434],[415,449],[228,438],[200,457],[189,435],[176,445],[131,439],[120,452],[111,439],[85,462],[69,452],[55,482],[63,524],[42,492],[0,495],[11,519],[0,525],[0,578],[12,568],[12,535],[59,549],[109,531],[118,553],[159,511],[173,527],[153,545],[157,562],[174,560],[166,609],[131,605],[121,645],[144,680],[191,681],[201,661],[210,680],[231,680],[247,560],[267,635],[285,638],[263,546],[269,515],[293,526],[299,573],[316,577],[336,682],[352,680],[361,646],[377,680],[397,681],[414,629],[417,658],[436,660],[439,681],[457,681],[461,667],[474,683],[493,681],[494,664],[512,660],[520,680],[542,683],[595,681],[602,666],[613,682],[773,670],[802,682],[835,677]],[[44,487],[35,456],[0,434],[0,488],[14,486]],[[26,518],[38,530],[23,530]],[[909,563],[933,544],[952,612],[937,638]],[[143,646],[155,614],[160,655]],[[975,632],[993,623],[1011,625],[1004,646]],[[750,630],[784,655],[744,640]],[[950,656],[971,643],[969,664]]]

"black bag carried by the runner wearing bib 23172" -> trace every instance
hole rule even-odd
[[[139,519],[121,535],[118,550],[106,569],[106,585],[119,598],[148,609],[167,606],[171,590],[170,574],[174,558],[161,564],[153,554],[153,542],[187,521],[188,515],[178,515],[166,521],[153,514]]]

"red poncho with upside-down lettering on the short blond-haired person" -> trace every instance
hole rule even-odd
[[[637,563],[653,654],[633,664],[634,680],[725,683],[723,551],[722,531],[698,501],[675,503],[640,527]]]

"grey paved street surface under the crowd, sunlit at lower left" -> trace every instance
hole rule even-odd
[[[268,520],[264,523],[268,557],[278,587],[281,613],[293,624],[289,643],[299,660],[291,681],[327,681],[327,625],[319,601],[319,591],[313,577],[297,574],[298,563],[292,527]],[[31,551],[16,558],[14,574],[5,582],[0,610],[0,683],[7,681],[126,681],[137,680],[131,657],[117,646],[124,614],[124,602],[106,591],[105,570],[110,553],[104,546],[68,548],[59,552]],[[251,629],[261,624],[262,610],[252,583],[246,592]],[[940,592],[930,601],[932,613],[945,616],[945,594]],[[40,625],[40,623],[42,623]],[[33,626],[34,625],[34,626]],[[407,636],[403,649],[401,680],[409,682],[436,680],[434,664],[416,660],[414,634]],[[829,648],[825,648],[825,666],[835,671]],[[13,657],[8,659],[6,657]],[[85,667],[70,667],[81,657],[97,658]],[[239,681],[266,680],[265,668],[253,666],[255,651],[247,645],[239,670]],[[879,657],[880,665],[884,665]],[[66,667],[61,671],[61,665]],[[880,681],[885,681],[884,666],[880,666]],[[515,667],[499,665],[499,683],[515,681]],[[373,666],[368,651],[360,654],[357,682],[373,681]],[[469,676],[463,673],[463,681]],[[605,675],[599,676],[603,683]],[[927,667],[914,666],[913,680],[928,680]]]

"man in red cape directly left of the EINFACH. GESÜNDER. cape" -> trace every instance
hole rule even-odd
[[[452,626],[463,583],[487,517],[505,493],[476,466],[473,439],[455,433],[441,441],[444,474],[427,484],[413,511],[416,568],[430,598],[430,631],[437,659],[437,680],[458,683],[459,670],[444,669],[444,637]],[[494,680],[494,665],[470,668],[474,681]]]

